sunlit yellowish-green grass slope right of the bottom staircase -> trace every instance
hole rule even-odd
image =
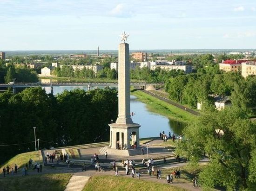
[[[137,178],[94,176],[85,185],[83,191],[184,191],[184,189]]]

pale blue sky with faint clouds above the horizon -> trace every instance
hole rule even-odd
[[[0,0],[0,51],[255,49],[256,0]]]

